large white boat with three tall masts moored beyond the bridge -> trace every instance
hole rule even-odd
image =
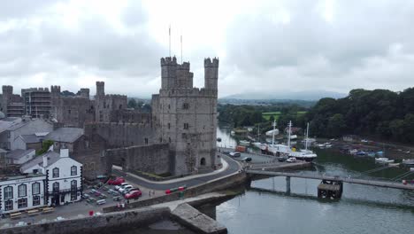
[[[288,157],[295,157],[298,160],[307,160],[311,161],[318,157],[318,155],[311,150],[308,150],[308,136],[309,136],[309,123],[308,128],[306,130],[306,140],[305,140],[305,149],[300,149],[298,151],[292,149],[290,147],[290,132],[292,128],[292,121],[289,122],[288,125],[288,145],[286,144],[274,144],[274,135],[272,144],[270,145],[263,145],[260,149],[263,153],[273,154],[277,156],[288,156]],[[276,121],[273,122],[273,129],[276,128]]]

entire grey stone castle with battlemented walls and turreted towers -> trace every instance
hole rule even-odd
[[[151,113],[127,109],[126,96],[105,94],[104,82],[96,82],[94,98],[88,89],[65,96],[59,86],[51,86],[50,91],[31,88],[19,96],[12,94],[12,86],[3,86],[0,110],[6,116],[45,118],[56,128],[82,128],[84,138],[100,139],[94,148],[102,152],[88,153],[83,146],[73,152],[85,168],[93,164],[94,171],[111,173],[111,165],[116,164],[131,172],[195,174],[219,164],[219,59],[204,59],[204,88],[193,87],[193,76],[188,62],[161,58],[162,85],[152,96]]]

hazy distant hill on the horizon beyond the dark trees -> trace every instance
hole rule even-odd
[[[305,91],[275,91],[273,93],[266,92],[248,92],[234,94],[223,99],[282,99],[282,100],[306,100],[315,101],[320,98],[345,98],[348,94],[331,92],[325,90],[305,90]]]

